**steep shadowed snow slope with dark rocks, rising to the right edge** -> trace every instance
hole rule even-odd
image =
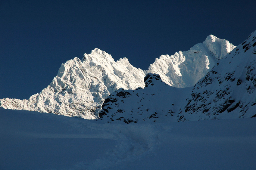
[[[256,117],[256,31],[198,82],[178,121]]]

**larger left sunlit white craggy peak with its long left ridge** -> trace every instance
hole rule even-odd
[[[30,110],[65,116],[98,118],[101,104],[120,87],[143,87],[144,72],[133,67],[127,58],[117,62],[97,48],[84,54],[83,60],[74,58],[62,64],[58,75],[40,94],[29,100],[0,100],[5,109]]]

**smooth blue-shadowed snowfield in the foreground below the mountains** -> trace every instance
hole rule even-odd
[[[256,119],[104,123],[0,108],[0,169],[255,169]]]

